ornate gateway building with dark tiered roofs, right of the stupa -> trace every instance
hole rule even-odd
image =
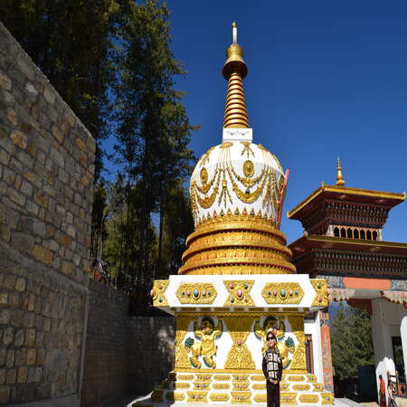
[[[404,390],[405,395],[407,243],[383,241],[390,210],[404,200],[405,193],[345,186],[338,158],[336,185],[322,183],[288,216],[304,228],[304,235],[289,245],[297,272],[327,280],[330,301],[347,301],[369,312],[377,385],[379,375],[386,383],[391,377],[399,384],[398,392]],[[320,317],[322,359],[327,363],[319,374],[332,389],[327,310]],[[321,356],[314,351],[313,357]]]

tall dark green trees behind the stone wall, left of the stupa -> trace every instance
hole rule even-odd
[[[183,187],[194,159],[175,90],[169,10],[156,0],[4,0],[0,16],[97,139],[91,255],[118,286],[147,285],[181,265],[194,225]],[[114,137],[114,152],[100,140]],[[100,179],[102,157],[118,166]],[[147,292],[147,291],[146,291]]]

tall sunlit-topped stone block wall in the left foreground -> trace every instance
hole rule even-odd
[[[0,23],[0,403],[78,399],[94,153]]]

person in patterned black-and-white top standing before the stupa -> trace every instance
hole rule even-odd
[[[279,382],[282,376],[282,362],[277,349],[277,337],[270,330],[266,335],[267,349],[263,354],[262,368],[266,377],[267,407],[279,407]]]

